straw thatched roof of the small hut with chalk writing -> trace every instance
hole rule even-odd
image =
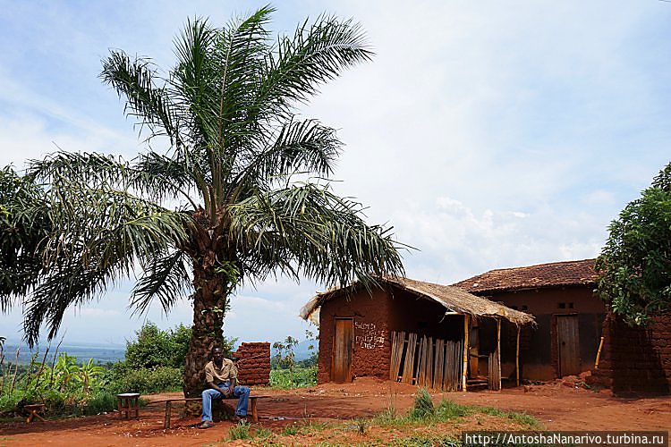
[[[534,323],[533,316],[506,308],[503,304],[490,301],[482,297],[475,296],[467,291],[463,291],[457,287],[449,285],[441,285],[434,283],[424,283],[422,281],[415,281],[409,278],[386,277],[378,279],[380,285],[391,285],[403,291],[410,291],[411,293],[420,296],[424,299],[433,299],[437,303],[446,308],[446,313],[456,312],[459,314],[467,314],[473,317],[502,317],[514,323],[515,325],[527,325]],[[322,304],[329,299],[352,293],[353,291],[361,290],[363,286],[355,283],[350,287],[335,289],[332,291],[325,291],[314,296],[301,309],[301,317],[307,320],[316,311],[319,310]]]

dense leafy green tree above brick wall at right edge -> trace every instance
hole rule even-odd
[[[598,293],[630,325],[671,309],[671,164],[608,227]]]

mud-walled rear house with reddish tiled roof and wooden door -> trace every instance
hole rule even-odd
[[[537,326],[522,330],[522,377],[550,380],[593,369],[607,308],[594,295],[594,259],[492,270],[453,284],[529,312]],[[502,374],[514,371],[513,330],[504,328]]]

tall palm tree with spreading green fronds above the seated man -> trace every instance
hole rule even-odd
[[[0,173],[15,192],[0,195],[0,211],[39,217],[29,229],[0,220],[0,249],[26,266],[0,282],[0,303],[23,299],[30,343],[41,325],[54,337],[67,308],[129,276],[139,276],[131,301],[140,312],[154,300],[167,312],[191,291],[190,396],[243,283],[284,274],[372,285],[403,273],[390,229],[365,223],[361,205],[329,187],[342,147],[335,131],[296,114],[320,85],[369,60],[361,28],[320,16],[272,38],[272,12],[223,28],[188,21],[169,72],[123,51],[106,57],[102,80],[164,150],[130,161],[61,151],[25,176]]]

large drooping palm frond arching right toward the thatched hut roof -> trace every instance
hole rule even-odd
[[[243,262],[262,257],[266,263],[257,271],[248,264],[252,274],[278,268],[328,285],[403,274],[403,245],[391,229],[369,226],[359,204],[328,187],[304,183],[256,195],[231,208],[231,222]]]

